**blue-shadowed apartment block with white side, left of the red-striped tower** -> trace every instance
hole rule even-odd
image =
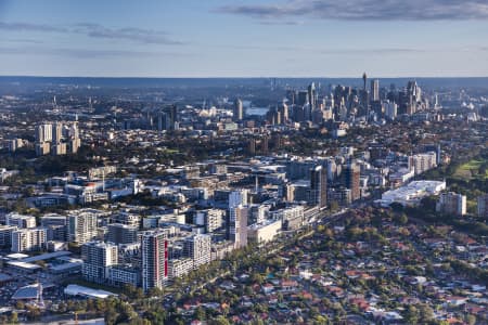
[[[81,273],[85,280],[105,283],[108,269],[118,263],[117,246],[111,243],[89,242],[81,246],[84,265]]]

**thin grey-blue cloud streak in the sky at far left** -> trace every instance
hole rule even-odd
[[[70,26],[56,26],[30,23],[4,23],[0,22],[0,30],[7,31],[37,31],[37,32],[62,32],[80,34],[91,38],[132,41],[139,43],[179,46],[181,41],[172,40],[167,32],[162,30],[121,27],[108,28],[100,24],[76,24]]]

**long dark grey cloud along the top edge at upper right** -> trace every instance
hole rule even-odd
[[[272,4],[226,5],[217,12],[260,21],[294,17],[357,21],[488,20],[486,0],[287,0]]]

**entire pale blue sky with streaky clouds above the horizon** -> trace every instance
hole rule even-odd
[[[488,0],[0,0],[0,75],[487,77]]]

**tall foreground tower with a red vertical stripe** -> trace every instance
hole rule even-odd
[[[142,288],[163,288],[168,280],[168,234],[165,230],[142,233]]]

